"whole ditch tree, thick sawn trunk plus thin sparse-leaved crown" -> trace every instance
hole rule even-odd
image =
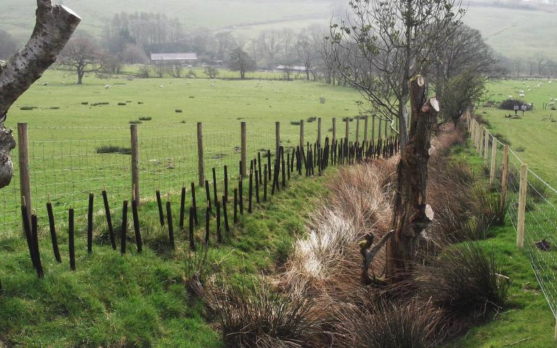
[[[366,98],[372,113],[400,132],[395,233],[386,246],[386,277],[394,282],[411,273],[418,239],[433,219],[425,188],[439,102],[427,97],[423,76],[461,24],[459,1],[352,0],[350,15],[331,24],[328,36],[331,65]],[[393,127],[395,118],[399,129]]]

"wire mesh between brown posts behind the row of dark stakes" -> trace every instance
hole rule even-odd
[[[240,176],[240,121],[234,124],[203,123],[203,157],[205,179],[212,185],[212,168],[217,171],[217,184],[222,184],[223,166],[228,167],[229,180]],[[304,143],[317,140],[317,118],[304,118]],[[350,141],[365,138],[364,119],[347,120]],[[356,124],[359,123],[359,127]],[[373,123],[375,134],[372,134]],[[257,152],[268,150],[274,156],[275,123],[246,121],[247,162]],[[292,151],[300,144],[300,123],[282,122],[281,145]],[[333,136],[333,121],[323,119],[322,141]],[[382,127],[384,136],[385,126]],[[368,122],[368,140],[379,137],[379,121]],[[52,137],[55,139],[40,139]],[[45,136],[47,134],[47,136]],[[14,134],[17,141],[17,134]],[[393,135],[389,129],[387,135]],[[346,136],[346,122],[336,119],[336,136]],[[93,139],[91,139],[93,137]],[[52,202],[54,216],[61,218],[70,205],[75,214],[86,214],[90,192],[100,197],[103,187],[111,202],[130,199],[132,194],[132,149],[127,127],[29,127],[29,177],[31,204],[39,215],[46,214],[47,200]],[[80,140],[56,140],[80,139]],[[81,140],[82,139],[82,140]],[[19,183],[19,157],[13,152],[14,177],[2,190],[0,198],[0,237],[20,232],[22,198]],[[162,193],[189,189],[198,184],[198,143],[196,122],[179,125],[139,125],[139,190],[142,200],[152,199],[158,189]],[[119,205],[119,204],[118,204]],[[116,206],[118,206],[116,205]],[[114,208],[115,210],[118,208]]]

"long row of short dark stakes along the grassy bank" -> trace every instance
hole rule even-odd
[[[366,159],[374,159],[382,155],[383,157],[391,157],[397,153],[398,149],[398,138],[393,136],[390,139],[379,139],[377,145],[372,143],[348,143],[347,141],[334,141],[333,145],[329,145],[329,139],[325,139],[324,146],[322,147],[319,143],[313,144],[313,147],[308,143],[307,148],[300,150],[297,146],[292,149],[292,155],[290,152],[287,153],[287,158],[284,158],[284,148],[278,148],[278,156],[274,160],[274,168],[271,168],[271,152],[267,150],[267,164],[264,165],[263,171],[261,168],[261,152],[258,152],[256,159],[251,159],[250,169],[249,169],[249,193],[248,193],[248,212],[252,212],[252,197],[253,197],[253,177],[255,173],[255,197],[256,202],[260,203],[260,193],[259,189],[263,187],[263,198],[262,200],[267,201],[267,182],[272,180],[272,190],[271,194],[274,195],[275,191],[280,191],[280,187],[286,187],[286,180],[290,180],[290,174],[297,172],[302,175],[302,171],[305,168],[306,177],[315,175],[315,167],[317,167],[319,175],[322,171],[330,165],[337,164],[354,164],[361,163]],[[242,168],[242,162],[240,161],[240,168]],[[241,170],[241,169],[240,169]],[[274,173],[274,174],[272,174]],[[281,177],[282,185],[279,182]],[[224,227],[226,232],[230,232],[230,225],[228,223],[228,167],[224,166],[224,194],[222,196],[221,202],[219,202],[217,195],[217,173],[215,168],[212,168],[212,186],[213,186],[213,204],[216,209],[216,219],[217,219],[217,242],[223,242],[223,233],[221,231],[221,218],[224,221]],[[237,223],[237,213],[244,214],[244,193],[243,193],[243,178],[240,173],[240,179],[238,180],[238,187],[234,189],[234,212],[233,221]],[[210,216],[212,216],[212,202],[210,197],[210,187],[208,180],[205,180],[205,195],[206,195],[206,212],[205,212],[205,246],[208,246],[210,242]],[[157,206],[159,209],[159,222],[161,226],[165,226],[165,214],[162,205],[161,193],[159,190],[156,191],[157,196]],[[174,241],[174,230],[172,222],[172,209],[170,198],[166,200],[166,225],[168,226],[168,243],[171,248],[175,247]],[[107,196],[106,188],[102,190],[102,199],[104,203],[104,211],[107,219],[107,226],[109,230],[110,242],[113,250],[116,250],[116,238],[113,230],[111,213],[109,207],[109,200]],[[38,246],[38,219],[36,212],[31,214],[31,221],[27,219],[27,208],[25,203],[21,207],[23,228],[26,237],[27,246],[29,247],[29,253],[31,255],[31,262],[33,267],[36,269],[38,277],[42,278],[44,276],[42,264],[40,261],[40,252]],[[87,216],[87,251],[89,254],[93,252],[93,193],[89,193],[88,202],[88,216]],[[185,223],[185,200],[186,200],[186,188],[182,187],[182,195],[180,201],[180,221],[179,228],[184,229]],[[222,207],[222,214],[221,214]],[[240,209],[238,209],[240,208]],[[126,238],[127,238],[127,210],[128,201],[123,201],[122,209],[122,229],[120,235],[120,253],[126,253]],[[54,257],[58,263],[62,262],[60,251],[58,250],[58,242],[56,239],[56,228],[54,223],[54,213],[52,210],[52,203],[48,199],[47,202],[47,214],[49,219],[49,230],[50,237],[52,240],[52,248],[54,250]],[[141,253],[143,250],[143,242],[141,239],[141,230],[139,227],[139,213],[138,204],[135,197],[132,197],[132,219],[135,232],[135,244],[137,252]],[[198,214],[196,207],[196,191],[195,184],[191,182],[191,207],[189,208],[189,248],[194,251],[196,249],[196,242],[194,239],[194,226],[199,226]],[[74,271],[75,266],[75,248],[74,248],[74,209],[70,207],[68,214],[68,250],[70,254],[70,269]],[[1,286],[1,285],[0,285]]]

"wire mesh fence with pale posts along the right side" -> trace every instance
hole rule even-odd
[[[501,202],[517,234],[517,246],[528,256],[540,289],[557,318],[557,190],[531,171],[510,146],[473,119],[469,131],[474,145],[485,140],[483,134],[487,136],[489,151],[478,154],[482,157],[489,154],[485,165],[491,187],[503,197]]]

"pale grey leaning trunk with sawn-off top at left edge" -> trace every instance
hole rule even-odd
[[[3,120],[17,98],[56,62],[79,22],[81,18],[69,8],[37,0],[36,24],[29,42],[0,66],[0,188],[12,180],[10,152],[15,148],[12,131],[4,127]]]

